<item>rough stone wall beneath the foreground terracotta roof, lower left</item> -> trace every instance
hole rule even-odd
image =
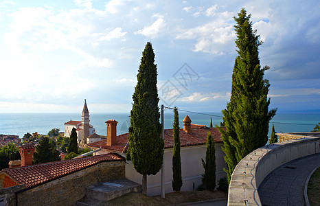
[[[124,161],[108,161],[19,193],[18,205],[75,205],[85,187],[111,179],[124,179]]]

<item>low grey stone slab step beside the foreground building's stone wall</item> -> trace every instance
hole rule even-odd
[[[141,192],[141,185],[128,179],[120,179],[86,187],[87,198],[98,201],[110,201],[129,192]]]

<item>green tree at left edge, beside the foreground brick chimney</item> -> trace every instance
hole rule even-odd
[[[18,147],[9,142],[7,145],[0,148],[0,171],[4,168],[9,168],[11,160],[21,159]]]

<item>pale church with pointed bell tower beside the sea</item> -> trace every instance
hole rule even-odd
[[[89,124],[90,115],[89,115],[89,110],[88,110],[86,100],[84,100],[84,106],[83,106],[81,117],[82,117],[81,121],[70,120],[69,122],[65,122],[65,135],[64,136],[70,137],[72,128],[76,128],[78,142],[79,143],[82,142],[84,144],[87,144],[87,137],[89,137],[89,135],[92,135],[95,133],[95,128],[93,128],[93,126],[91,124]]]

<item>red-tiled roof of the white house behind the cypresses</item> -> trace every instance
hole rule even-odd
[[[180,129],[180,144],[181,147],[185,146],[196,146],[205,144],[207,142],[207,133],[210,132],[212,137],[214,137],[214,141],[220,142],[222,141],[221,134],[219,133],[217,128],[208,128],[205,125],[192,124],[192,132],[185,133],[183,129]],[[173,148],[173,133],[172,129],[165,129],[165,148]],[[88,146],[93,148],[103,148],[106,150],[111,150],[115,152],[123,152],[125,153],[128,149],[128,136],[129,133],[118,135],[117,143],[112,146],[106,146],[106,139],[95,141]]]

